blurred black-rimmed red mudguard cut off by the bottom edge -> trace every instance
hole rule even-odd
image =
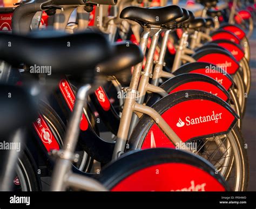
[[[228,191],[203,158],[166,148],[133,150],[107,165],[99,181],[110,191]]]

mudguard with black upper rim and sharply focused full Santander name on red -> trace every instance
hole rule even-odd
[[[164,105],[169,100],[176,102],[173,102],[174,105],[169,106],[170,108],[161,116],[183,142],[194,138],[227,134],[238,119],[237,114],[226,102],[206,92],[180,91],[169,94],[154,106],[161,106],[161,103]],[[175,148],[156,123],[146,134],[142,149],[155,147]]]

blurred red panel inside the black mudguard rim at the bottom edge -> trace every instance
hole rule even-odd
[[[163,163],[132,173],[111,191],[225,191],[225,188],[196,166]]]

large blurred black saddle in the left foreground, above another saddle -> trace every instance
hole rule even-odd
[[[48,36],[43,37],[0,34],[0,59],[29,68],[50,67],[52,74],[86,74],[93,78],[97,64],[112,55],[112,46],[102,34],[46,33]]]

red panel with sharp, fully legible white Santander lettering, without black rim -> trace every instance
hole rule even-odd
[[[226,133],[236,120],[225,107],[203,99],[180,102],[161,116],[183,142],[196,137]],[[156,123],[147,133],[142,149],[153,147],[175,148]]]

